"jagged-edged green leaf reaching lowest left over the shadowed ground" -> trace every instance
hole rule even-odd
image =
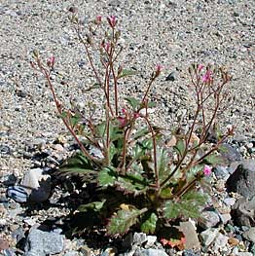
[[[128,209],[120,209],[110,218],[110,222],[107,225],[108,235],[124,235],[130,229],[131,226],[137,223],[138,217],[143,213],[143,210],[139,210],[130,206]]]

